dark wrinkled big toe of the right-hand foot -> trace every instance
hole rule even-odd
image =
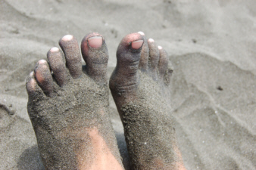
[[[138,79],[139,60],[144,36],[132,33],[125,36],[117,48],[117,66],[111,78],[115,85],[127,87],[136,85]]]

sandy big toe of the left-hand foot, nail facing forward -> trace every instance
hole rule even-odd
[[[98,33],[86,35],[81,43],[83,59],[86,61],[86,73],[95,82],[107,82],[108,48],[105,39]]]

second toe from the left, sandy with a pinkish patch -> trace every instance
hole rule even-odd
[[[47,96],[53,94],[53,80],[50,68],[46,60],[39,60],[34,70],[36,81]]]

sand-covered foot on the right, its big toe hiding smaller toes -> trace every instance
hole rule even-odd
[[[168,102],[171,73],[166,51],[143,32],[120,42],[110,88],[133,169],[185,169]]]

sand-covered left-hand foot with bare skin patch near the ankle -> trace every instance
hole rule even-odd
[[[27,110],[45,169],[123,169],[108,113],[108,49],[98,33],[80,48],[64,36],[27,79]],[[64,53],[64,54],[63,54]]]

